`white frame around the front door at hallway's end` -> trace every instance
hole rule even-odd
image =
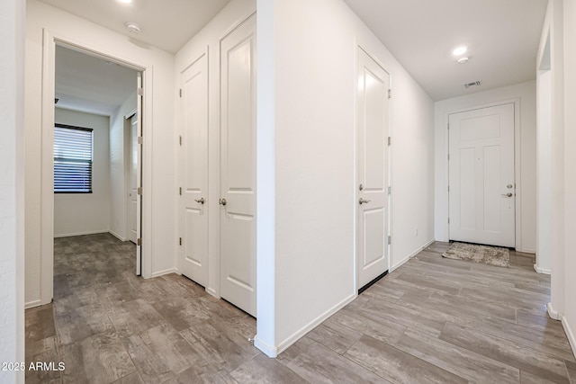
[[[513,103],[514,104],[514,183],[516,183],[516,201],[515,201],[515,210],[516,210],[516,233],[515,233],[515,237],[516,237],[516,249],[521,250],[522,248],[522,179],[520,177],[520,172],[521,172],[521,152],[522,152],[522,148],[520,145],[520,99],[516,98],[516,99],[507,99],[507,100],[502,100],[500,102],[496,102],[496,103],[486,103],[486,104],[479,104],[479,105],[473,105],[470,107],[466,107],[466,108],[461,108],[461,109],[457,109],[457,110],[453,110],[453,111],[448,111],[446,112],[445,116],[444,116],[444,150],[445,150],[445,154],[444,154],[444,161],[445,161],[445,165],[444,165],[444,172],[445,172],[445,180],[446,180],[446,186],[444,188],[442,188],[443,193],[444,193],[444,200],[446,202],[446,210],[445,210],[445,218],[446,220],[443,220],[443,226],[445,227],[445,233],[447,235],[446,241],[450,238],[450,228],[448,225],[448,218],[450,217],[450,194],[448,193],[448,182],[450,180],[449,178],[449,163],[448,163],[448,154],[450,151],[449,148],[449,139],[448,139],[448,121],[450,119],[450,115],[451,114],[455,114],[455,113],[460,113],[460,112],[470,112],[470,111],[475,111],[475,110],[479,110],[479,109],[483,109],[483,108],[490,108],[490,107],[496,107],[499,105],[504,105],[504,104],[510,104]]]

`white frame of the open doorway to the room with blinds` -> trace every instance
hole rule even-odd
[[[127,58],[106,53],[103,47],[95,47],[85,41],[43,29],[42,36],[42,101],[41,101],[41,169],[40,169],[40,305],[48,304],[54,297],[54,94],[56,89],[56,45],[75,49],[88,55],[103,58],[123,67],[142,73],[143,78],[143,132],[152,137],[152,97],[146,96],[152,87],[152,67],[131,62]],[[147,92],[147,90],[149,90]],[[151,146],[142,146],[142,188],[147,194],[142,201],[142,276],[151,277]]]

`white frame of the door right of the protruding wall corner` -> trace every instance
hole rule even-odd
[[[370,58],[374,59],[374,61],[383,68],[383,70],[388,74],[388,81],[389,81],[389,86],[390,86],[390,90],[392,91],[392,72],[390,71],[389,67],[386,67],[383,65],[383,62],[376,56],[374,55],[373,51],[371,49],[368,49],[368,45],[364,44],[363,41],[359,41],[359,40],[355,40],[354,43],[354,54],[355,54],[355,64],[354,64],[354,78],[355,78],[355,87],[354,87],[354,111],[355,111],[355,127],[354,127],[354,161],[355,161],[355,165],[354,165],[354,181],[353,181],[353,188],[354,188],[354,201],[353,201],[353,207],[354,207],[354,239],[353,239],[353,244],[354,244],[354,286],[355,286],[355,294],[358,294],[358,290],[361,289],[362,287],[359,285],[359,279],[358,279],[358,244],[357,244],[357,238],[358,238],[358,215],[357,215],[357,205],[358,205],[358,199],[359,199],[359,192],[358,192],[358,184],[357,184],[357,180],[358,180],[358,127],[357,127],[357,119],[356,119],[356,105],[358,103],[358,96],[357,96],[357,84],[358,84],[358,51],[357,49],[362,49],[363,51],[365,51],[366,55],[368,55]],[[391,119],[391,111],[392,111],[392,98],[389,98],[388,101],[388,113],[386,116],[387,119],[387,135],[388,138],[392,138],[392,119]],[[391,188],[392,191],[392,145],[388,146],[388,169],[386,169],[386,172],[388,173],[388,186]],[[385,238],[386,237],[391,237],[392,238],[392,193],[388,194],[388,199],[386,202],[388,205],[386,207],[386,211],[387,211],[387,218],[386,218],[386,225],[385,225],[385,230],[387,231],[387,233],[385,234]],[[386,244],[386,253],[388,255],[388,265],[387,265],[387,271],[388,273],[392,272],[392,244]]]

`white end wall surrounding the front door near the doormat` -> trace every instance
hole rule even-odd
[[[448,163],[447,119],[450,112],[519,99],[519,142],[516,145],[517,200],[520,200],[518,251],[536,252],[536,82],[529,81],[498,89],[455,97],[435,103],[436,126],[436,239],[448,241]],[[517,138],[518,141],[518,138]],[[519,165],[518,165],[519,159]],[[518,205],[517,205],[518,207]],[[517,221],[518,224],[518,221]],[[517,228],[518,229],[518,228]]]

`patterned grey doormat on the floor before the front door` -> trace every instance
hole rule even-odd
[[[468,260],[474,263],[509,267],[510,252],[508,248],[500,246],[479,246],[476,244],[453,243],[442,257],[455,260]]]

